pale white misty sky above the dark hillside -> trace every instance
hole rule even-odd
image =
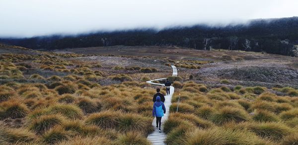
[[[298,16],[298,0],[0,0],[0,37],[245,23]]]

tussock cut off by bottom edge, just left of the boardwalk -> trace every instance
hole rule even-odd
[[[119,136],[115,145],[151,145],[151,143],[138,132],[130,132]]]

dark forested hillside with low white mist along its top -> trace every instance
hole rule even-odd
[[[228,49],[298,56],[298,17],[255,19],[246,24],[131,29],[80,35],[1,38],[0,43],[31,49],[96,46],[180,46],[200,50]]]

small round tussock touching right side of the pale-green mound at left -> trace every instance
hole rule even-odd
[[[83,110],[84,113],[93,113],[100,109],[96,103],[86,97],[79,98],[76,104]]]

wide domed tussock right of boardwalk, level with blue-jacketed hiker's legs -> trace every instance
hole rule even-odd
[[[229,122],[243,122],[249,120],[248,114],[238,108],[232,108],[232,107],[224,107],[221,108],[218,112],[214,113],[210,120],[214,122],[215,124],[222,125],[224,123]]]

